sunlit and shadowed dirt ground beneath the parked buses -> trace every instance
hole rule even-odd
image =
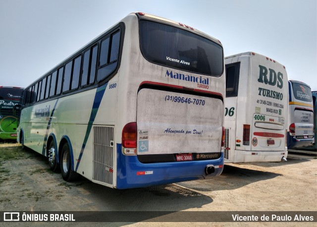
[[[289,154],[287,162],[225,165],[213,179],[117,190],[81,177],[63,181],[45,157],[17,144],[0,144],[1,211],[317,211],[316,153]],[[1,155],[1,154],[0,154]],[[11,226],[23,223],[10,224]],[[25,224],[25,223],[24,223]],[[40,223],[36,223],[40,224]],[[46,223],[56,226],[56,223]],[[284,226],[285,223],[151,223],[151,226]],[[63,225],[59,223],[57,226]],[[67,224],[78,226],[80,224]],[[95,223],[94,226],[149,226]],[[289,223],[288,226],[316,226]],[[87,226],[87,223],[85,224]]]

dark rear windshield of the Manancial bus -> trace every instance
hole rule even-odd
[[[192,32],[140,20],[143,56],[156,64],[209,76],[221,76],[222,47]]]

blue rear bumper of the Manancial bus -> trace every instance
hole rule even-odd
[[[213,165],[215,170],[206,174],[206,167]],[[218,176],[223,170],[223,152],[215,160],[201,160],[168,163],[140,163],[137,156],[125,156],[121,144],[117,144],[116,188],[147,187],[195,179]]]

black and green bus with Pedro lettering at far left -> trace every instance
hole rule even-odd
[[[0,86],[0,139],[16,140],[17,114],[13,113],[23,88]]]

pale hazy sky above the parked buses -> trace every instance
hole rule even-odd
[[[197,28],[225,56],[277,60],[317,90],[317,0],[0,0],[0,86],[28,86],[134,11]]]

